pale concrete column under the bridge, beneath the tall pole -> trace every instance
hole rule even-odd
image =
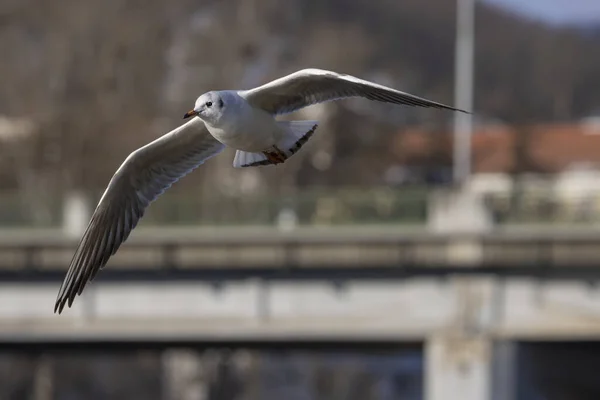
[[[491,400],[489,338],[439,335],[425,344],[426,400]]]

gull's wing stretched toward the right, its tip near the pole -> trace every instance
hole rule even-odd
[[[346,97],[364,97],[386,103],[443,108],[466,113],[464,110],[351,75],[338,74],[322,69],[303,69],[255,89],[240,91],[238,94],[244,97],[253,107],[272,114],[286,114],[312,104]]]

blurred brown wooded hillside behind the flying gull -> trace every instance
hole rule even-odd
[[[454,21],[450,0],[5,2],[0,114],[31,118],[38,130],[18,151],[5,147],[0,186],[97,192],[133,149],[177,126],[199,93],[251,87],[308,66],[451,103]],[[575,28],[479,4],[476,113],[524,123],[597,112],[597,43]],[[361,101],[327,109],[332,117],[282,168],[240,174],[226,153],[174,190],[234,193],[248,174],[269,190],[376,184],[391,165],[413,162],[389,150],[397,132],[415,124],[441,130],[452,117]],[[329,162],[316,160],[324,155]]]

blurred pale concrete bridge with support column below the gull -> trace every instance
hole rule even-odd
[[[479,400],[514,343],[600,335],[593,230],[140,229],[54,315],[76,244],[0,232],[0,346],[418,344],[428,399]]]

